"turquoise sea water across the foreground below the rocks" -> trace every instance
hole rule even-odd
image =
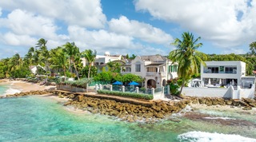
[[[0,86],[1,93],[6,89]],[[214,116],[234,115],[207,110],[205,113],[214,113]],[[254,121],[254,116],[234,116]],[[214,134],[220,133],[228,134],[222,135],[223,141],[236,136],[237,141],[256,141],[254,127],[223,127],[222,124],[174,117],[181,121],[127,123],[99,114],[70,112],[61,102],[49,97],[0,99],[0,141],[213,141],[219,138]]]

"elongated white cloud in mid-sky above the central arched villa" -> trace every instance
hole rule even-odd
[[[164,31],[135,20],[129,20],[125,16],[119,19],[112,18],[109,22],[110,31],[117,34],[126,34],[132,37],[138,37],[142,41],[147,41],[157,44],[166,44],[173,40],[170,34]]]

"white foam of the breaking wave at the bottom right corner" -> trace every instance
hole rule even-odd
[[[179,141],[190,141],[190,142],[256,142],[256,139],[243,137],[239,135],[229,135],[222,133],[210,133],[210,132],[186,132],[178,135]]]

